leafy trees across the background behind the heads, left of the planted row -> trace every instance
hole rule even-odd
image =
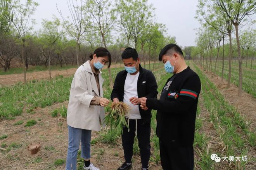
[[[166,43],[176,42],[163,24],[155,22],[154,8],[147,0],[66,0],[66,4],[69,16],[56,6],[60,18],[44,19],[35,31],[32,16],[37,2],[0,2],[0,65],[5,71],[13,58],[20,57],[26,82],[28,65],[48,66],[50,75],[52,63],[79,66],[99,46],[108,48],[116,62],[121,50],[132,46],[145,64],[153,58],[155,62]]]

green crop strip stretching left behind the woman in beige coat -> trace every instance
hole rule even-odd
[[[150,64],[151,68],[153,64]],[[146,65],[149,67],[149,65]],[[112,68],[112,79],[123,70]],[[107,69],[102,70],[104,82],[104,97],[110,98],[111,90]],[[19,82],[9,87],[0,88],[0,121],[14,119],[22,112],[33,113],[36,107],[44,108],[54,103],[61,103],[69,99],[69,90],[73,76],[57,76],[51,80],[32,80],[27,84]]]

